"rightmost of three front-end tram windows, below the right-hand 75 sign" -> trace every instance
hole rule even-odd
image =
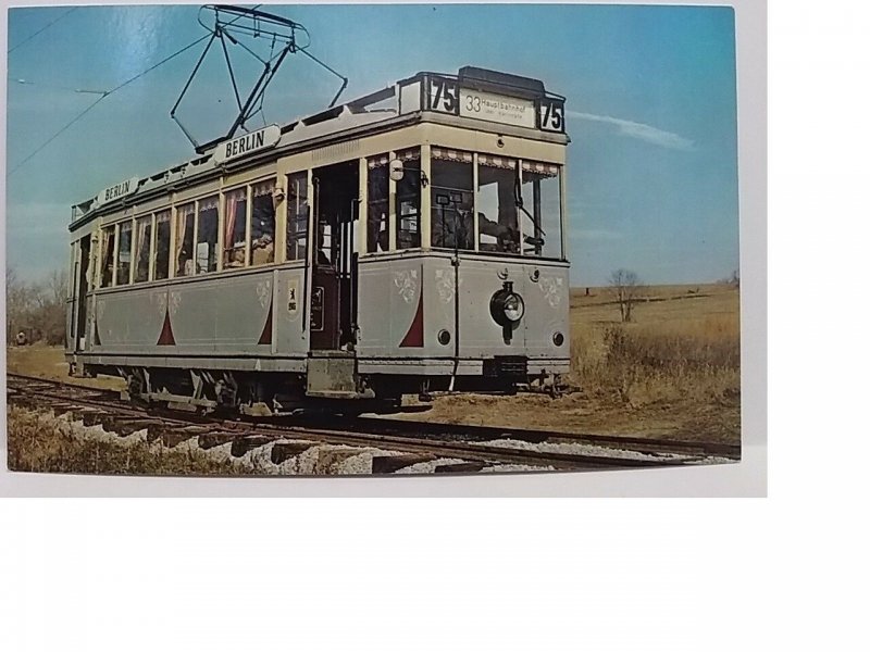
[[[562,258],[561,186],[559,167],[549,163],[523,161],[520,211],[523,253]]]

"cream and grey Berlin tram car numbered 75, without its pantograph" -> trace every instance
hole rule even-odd
[[[73,206],[71,373],[289,410],[569,371],[564,98],[420,73]]]

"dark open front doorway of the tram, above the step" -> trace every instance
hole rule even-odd
[[[353,221],[359,204],[357,161],[313,172],[314,234],[311,349],[352,350],[357,322]]]

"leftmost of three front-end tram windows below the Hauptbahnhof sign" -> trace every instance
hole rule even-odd
[[[468,152],[432,148],[432,246],[474,249],[474,165]]]

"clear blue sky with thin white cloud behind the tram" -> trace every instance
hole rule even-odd
[[[263,9],[309,29],[310,51],[350,78],[345,101],[419,71],[469,64],[537,77],[566,96],[574,285],[604,285],[618,267],[650,284],[710,281],[737,267],[731,9]],[[71,204],[192,154],[169,112],[204,43],[107,97],[21,164],[99,98],[76,89],[114,88],[206,34],[196,5],[88,7],[62,15],[67,11],[9,12],[7,260],[30,278],[66,265]],[[225,133],[232,120],[223,66],[213,50],[179,109],[200,140]],[[338,85],[291,58],[270,87],[264,117],[284,123],[318,111]]]

